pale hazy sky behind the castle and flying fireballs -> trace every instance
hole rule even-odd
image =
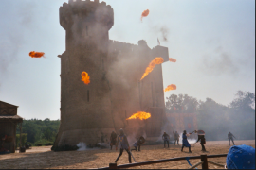
[[[60,118],[60,55],[65,32],[59,7],[67,0],[1,0],[0,100],[26,119]],[[101,2],[101,1],[100,1]],[[228,105],[238,90],[255,92],[254,0],[106,0],[115,13],[110,39],[169,48],[164,86]],[[143,10],[150,14],[140,22]],[[166,30],[167,41],[162,39]],[[46,53],[31,59],[30,51]]]

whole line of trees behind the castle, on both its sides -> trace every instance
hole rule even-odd
[[[198,128],[206,132],[210,141],[227,140],[229,131],[238,140],[255,140],[255,93],[238,91],[228,106],[210,98],[201,101],[187,94],[172,94],[167,97],[166,112],[196,113]],[[59,126],[60,120],[24,120],[22,143],[53,144]],[[18,137],[19,134],[17,128]]]

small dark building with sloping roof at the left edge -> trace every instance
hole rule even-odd
[[[17,110],[18,106],[0,101],[0,152],[15,153],[16,126],[23,122]]]

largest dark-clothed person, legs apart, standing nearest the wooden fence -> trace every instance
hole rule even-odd
[[[126,150],[126,152],[128,153],[129,157],[129,163],[132,163],[132,160],[131,160],[131,152],[130,152],[130,146],[129,146],[129,143],[128,143],[128,140],[127,140],[127,137],[126,135],[124,134],[123,132],[123,129],[120,128],[120,134],[119,134],[119,137],[118,137],[118,142],[116,144],[116,150],[118,150],[118,144],[120,143],[120,153],[119,153],[119,156],[117,158],[117,160],[115,161],[116,163],[119,161],[119,158],[121,157],[122,155],[122,152],[123,152],[123,149]]]

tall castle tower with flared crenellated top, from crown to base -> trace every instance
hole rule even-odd
[[[101,134],[115,130],[105,78],[114,11],[99,0],[69,0],[59,11],[66,49],[61,56],[61,126],[55,145],[97,144]],[[82,82],[84,71],[90,76],[88,85]]]

